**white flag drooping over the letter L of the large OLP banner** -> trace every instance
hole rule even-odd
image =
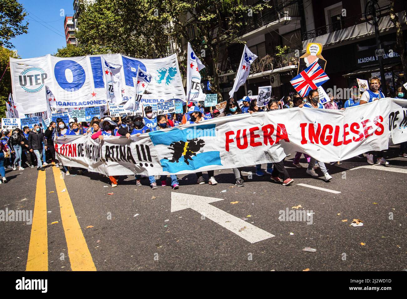
[[[101,55],[101,60],[107,101],[113,104],[120,104],[122,102],[122,92],[120,89],[120,70],[122,65],[108,63],[103,55]]]

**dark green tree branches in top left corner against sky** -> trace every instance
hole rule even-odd
[[[12,48],[10,39],[27,33],[25,16],[24,8],[17,0],[0,0],[0,45]]]

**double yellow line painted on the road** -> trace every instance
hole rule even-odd
[[[96,271],[59,168],[53,167],[61,221],[72,271]],[[48,271],[48,234],[45,171],[38,172],[33,223],[26,271]],[[62,192],[62,190],[66,190]]]

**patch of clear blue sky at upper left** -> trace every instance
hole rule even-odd
[[[28,33],[12,39],[11,43],[21,58],[54,54],[58,48],[66,46],[63,21],[65,15],[72,16],[74,13],[73,0],[19,0],[19,2],[28,14],[26,16],[29,23]]]

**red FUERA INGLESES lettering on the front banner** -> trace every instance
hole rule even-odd
[[[320,123],[300,123],[301,144],[308,142],[313,144],[321,144],[324,146],[346,145],[350,142],[361,142],[369,136],[382,135],[384,126],[382,124],[383,116],[376,116],[373,121],[370,119],[361,122],[352,122],[339,125]],[[263,136],[260,136],[263,135]],[[233,138],[236,136],[236,138]],[[287,129],[284,124],[266,124],[263,127],[252,127],[250,129],[239,129],[237,131],[228,131],[225,133],[225,150],[229,151],[230,144],[234,143],[239,149],[245,149],[248,146],[256,147],[261,145],[279,144],[280,140],[290,142],[287,134]]]

